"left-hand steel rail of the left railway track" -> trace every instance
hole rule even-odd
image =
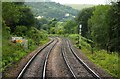
[[[49,46],[51,43],[54,42],[54,39],[51,40],[50,42],[48,42],[46,45],[44,45],[35,55],[32,56],[32,58],[30,58],[30,60],[27,62],[27,64],[23,67],[23,69],[20,71],[20,73],[17,76],[17,79],[21,79],[23,74],[25,73],[25,71],[27,70],[27,68],[29,67],[29,65],[31,64],[31,62],[35,59],[35,57],[43,50],[45,49],[47,46]]]

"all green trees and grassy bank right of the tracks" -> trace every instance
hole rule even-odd
[[[114,77],[118,77],[119,74],[119,6],[120,2],[115,2],[112,5],[98,5],[81,10],[75,19],[78,25],[82,24],[80,44],[78,44],[77,34],[68,35],[76,44],[75,46],[82,45],[81,50],[89,59]],[[76,26],[70,27],[68,25],[67,27],[74,29]],[[70,32],[71,30],[66,31]]]

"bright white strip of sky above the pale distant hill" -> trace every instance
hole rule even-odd
[[[52,0],[61,4],[105,4],[108,0]]]

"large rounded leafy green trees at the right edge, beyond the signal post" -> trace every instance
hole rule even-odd
[[[96,46],[111,52],[120,51],[119,5],[120,2],[113,3],[111,6],[97,6],[93,16],[88,20],[91,36]]]

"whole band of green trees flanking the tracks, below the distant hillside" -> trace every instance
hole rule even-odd
[[[75,21],[36,19],[30,8],[19,2],[3,2],[2,13],[3,21],[10,27],[11,34],[32,38],[31,35],[36,33],[35,38],[39,38],[38,29],[43,29],[48,34],[76,34],[81,24],[82,36],[92,40],[96,47],[111,52],[120,51],[120,2],[85,8],[78,13]]]

